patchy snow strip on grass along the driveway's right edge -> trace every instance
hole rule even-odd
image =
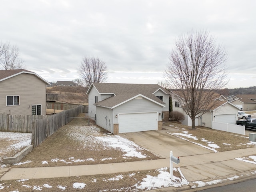
[[[220,148],[218,145],[214,144],[214,142],[205,140],[204,138],[202,138],[201,140],[203,142],[206,142],[208,146],[204,146],[204,145],[202,145],[200,143],[192,142],[192,141],[186,139],[186,138],[191,138],[191,139],[194,139],[194,140],[198,140],[198,138],[196,136],[192,136],[192,134],[189,134],[188,131],[182,131],[181,133],[168,133],[168,134],[176,136],[176,137],[178,137],[180,139],[183,139],[183,140],[186,140],[188,142],[194,143],[194,144],[199,145],[201,147],[210,149],[210,150],[212,150],[214,152],[218,152],[217,150],[215,150],[215,148]]]

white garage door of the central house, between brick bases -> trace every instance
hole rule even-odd
[[[119,133],[157,130],[157,113],[119,114]]]

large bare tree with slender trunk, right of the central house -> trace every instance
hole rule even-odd
[[[180,36],[169,55],[169,65],[164,76],[183,110],[192,120],[202,116],[220,102],[216,91],[226,80],[227,59],[225,49],[215,45],[208,32],[191,31]]]

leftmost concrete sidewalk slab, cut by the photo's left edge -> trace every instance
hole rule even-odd
[[[12,168],[2,176],[1,180],[12,179],[32,179],[36,173],[37,167],[33,168]]]

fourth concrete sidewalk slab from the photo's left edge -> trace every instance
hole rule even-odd
[[[100,164],[99,166],[103,174],[132,171],[132,169],[126,163],[109,163]]]

